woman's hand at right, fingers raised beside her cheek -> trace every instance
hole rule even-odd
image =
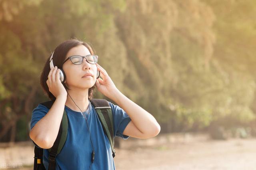
[[[111,80],[110,76],[108,76],[106,70],[104,70],[104,68],[102,68],[102,66],[100,66],[98,63],[96,63],[96,66],[97,70],[100,71],[100,76],[103,78],[98,78],[96,80],[96,88],[102,94],[112,99],[113,94],[117,92],[118,89],[116,88],[114,82]]]

